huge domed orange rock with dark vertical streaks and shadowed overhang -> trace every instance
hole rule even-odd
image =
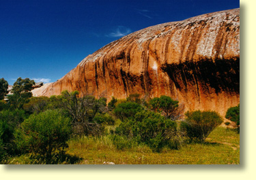
[[[83,59],[42,96],[79,90],[108,100],[167,95],[186,110],[225,115],[240,102],[240,10],[150,26]],[[42,88],[43,88],[42,87]]]

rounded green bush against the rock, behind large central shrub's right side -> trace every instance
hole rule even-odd
[[[180,114],[177,114],[178,101],[174,101],[169,96],[160,96],[160,98],[153,98],[150,100],[150,106],[154,111],[162,113],[165,118],[175,120]]]

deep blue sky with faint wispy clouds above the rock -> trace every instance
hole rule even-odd
[[[55,82],[124,35],[238,7],[238,0],[0,0],[0,78]]]

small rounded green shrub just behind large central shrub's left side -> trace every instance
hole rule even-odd
[[[120,103],[117,105],[117,107],[115,107],[114,114],[117,116],[117,118],[124,122],[124,120],[126,120],[127,118],[133,118],[137,112],[142,110],[143,107],[138,103],[125,102]]]

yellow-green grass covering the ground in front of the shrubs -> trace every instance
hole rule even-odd
[[[109,136],[72,138],[66,158],[58,164],[240,164],[240,134],[218,127],[205,143],[185,144],[179,150],[164,148],[154,153],[145,146],[123,151],[116,149]],[[29,155],[10,158],[8,164],[34,164]],[[39,162],[36,164],[40,164]]]

